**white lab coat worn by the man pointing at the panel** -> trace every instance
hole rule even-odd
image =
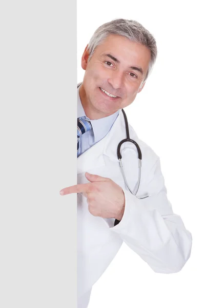
[[[160,161],[154,151],[140,141],[129,125],[130,138],[142,152],[141,182],[137,196],[126,188],[116,151],[126,138],[122,111],[110,132],[77,159],[77,183],[87,183],[85,172],[112,179],[125,194],[125,213],[118,225],[114,219],[94,217],[88,210],[87,199],[77,194],[77,284],[78,308],[88,306],[93,284],[100,278],[124,241],[156,273],[176,273],[190,257],[192,236],[181,218],[173,213],[161,174]],[[121,146],[122,163],[131,188],[138,179],[136,147]],[[129,260],[128,260],[129,261]]]

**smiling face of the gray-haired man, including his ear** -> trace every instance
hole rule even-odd
[[[151,54],[139,43],[121,35],[109,35],[98,45],[88,62],[85,49],[81,66],[85,70],[79,89],[81,103],[91,120],[108,117],[130,105],[145,79]]]

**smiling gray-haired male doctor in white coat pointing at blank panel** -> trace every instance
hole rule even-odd
[[[77,193],[78,308],[88,307],[93,284],[123,241],[156,273],[179,272],[190,257],[192,236],[167,199],[159,158],[130,125],[130,138],[142,153],[136,196],[127,188],[117,158],[117,145],[126,138],[121,109],[144,88],[156,56],[148,30],[117,19],[95,31],[81,59],[85,76],[77,89],[78,184],[60,191]],[[137,150],[126,142],[120,152],[133,191],[139,177]],[[149,197],[138,199],[143,196]]]

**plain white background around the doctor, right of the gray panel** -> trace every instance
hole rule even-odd
[[[193,236],[191,258],[177,274],[156,274],[126,245],[93,287],[89,308],[204,307],[204,18],[202,1],[77,1],[80,59],[98,26],[134,19],[156,38],[158,59],[126,108],[138,137],[161,159],[174,213]]]

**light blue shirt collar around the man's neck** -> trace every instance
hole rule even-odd
[[[90,120],[84,111],[82,106],[80,95],[79,95],[79,88],[77,88],[77,118],[85,117],[85,119]],[[118,117],[119,110],[115,113],[109,115],[108,117],[97,119],[97,120],[90,120],[90,123],[93,128],[94,133],[94,142],[98,142],[103,139],[109,130],[111,129],[112,125],[114,124],[116,118]]]

